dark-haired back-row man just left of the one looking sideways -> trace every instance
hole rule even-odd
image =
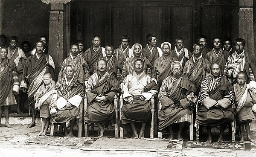
[[[121,65],[125,64],[126,58],[131,57],[132,49],[129,48],[130,37],[128,35],[122,35],[120,38],[119,48],[114,50],[114,56],[119,60]]]

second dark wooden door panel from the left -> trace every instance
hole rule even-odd
[[[120,45],[120,37],[130,36],[129,47],[134,43],[134,6],[111,7],[111,44],[115,48]]]

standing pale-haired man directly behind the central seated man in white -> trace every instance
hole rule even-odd
[[[131,58],[127,58],[126,61],[125,61],[125,64],[122,68],[122,74],[121,74],[121,83],[124,81],[124,78],[126,76],[128,76],[129,74],[133,73],[134,71],[134,61],[137,60],[137,59],[141,59],[143,60],[143,63],[144,63],[144,70],[145,70],[145,74],[149,75],[151,77],[151,74],[152,74],[152,64],[150,63],[150,61],[143,57],[142,55],[142,46],[141,44],[134,44],[132,46],[132,49],[133,49],[133,54],[131,56]],[[121,85],[122,87],[122,85]]]

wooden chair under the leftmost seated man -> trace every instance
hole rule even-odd
[[[78,123],[78,137],[82,137],[83,128],[84,128],[84,99],[82,99],[80,105],[79,105],[79,123]],[[59,129],[58,129],[59,125]],[[51,136],[55,136],[55,131],[63,131],[61,124],[51,124]]]

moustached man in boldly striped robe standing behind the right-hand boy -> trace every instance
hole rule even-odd
[[[244,39],[237,38],[235,41],[236,51],[227,58],[223,75],[227,77],[232,85],[236,84],[236,77],[239,71],[246,73],[246,83],[249,83],[251,80],[255,81],[256,66],[249,52],[245,52],[244,45]]]

